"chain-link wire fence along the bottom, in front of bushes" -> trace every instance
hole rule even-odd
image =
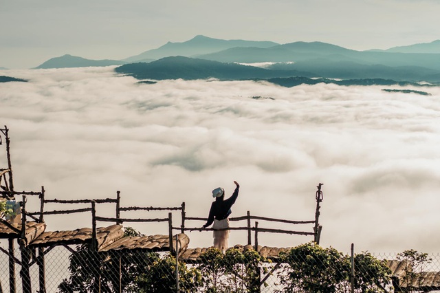
[[[3,250],[5,250],[3,248]],[[3,251],[4,252],[4,251]],[[30,252],[31,284],[23,287],[21,250],[15,274],[0,253],[0,292],[434,292],[440,289],[440,255],[406,250],[396,254],[342,254],[306,243],[263,257],[254,250],[210,248],[184,259],[168,252],[89,246]],[[354,268],[353,268],[354,263]],[[42,269],[43,268],[43,269]],[[178,280],[178,281],[177,281]],[[15,291],[14,291],[15,287]]]

